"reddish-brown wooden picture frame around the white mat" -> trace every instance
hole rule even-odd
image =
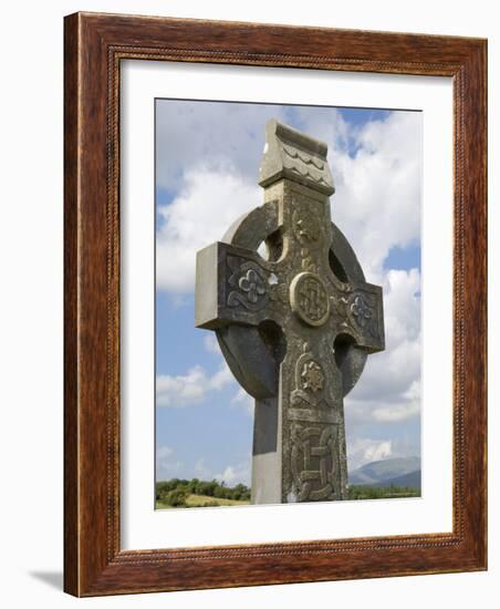
[[[114,595],[487,568],[487,42],[134,16],[65,18],[64,589]],[[451,533],[165,550],[119,545],[121,61],[450,76]]]

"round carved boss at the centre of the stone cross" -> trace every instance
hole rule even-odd
[[[323,281],[314,272],[300,272],[290,285],[292,310],[309,326],[323,326],[330,314],[330,299]]]

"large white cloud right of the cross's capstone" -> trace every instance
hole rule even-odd
[[[329,135],[336,185],[332,217],[350,239],[368,281],[382,279],[389,250],[420,237],[421,116],[395,112],[355,136],[352,157]]]

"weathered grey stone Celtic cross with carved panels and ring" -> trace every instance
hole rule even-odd
[[[252,503],[345,499],[343,398],[384,349],[382,288],[331,221],[326,145],[265,135],[264,204],[197,255],[196,326],[256,399]]]

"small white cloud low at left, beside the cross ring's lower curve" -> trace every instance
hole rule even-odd
[[[195,365],[187,374],[156,376],[156,405],[184,407],[200,403],[208,392],[219,391],[235,382],[231,371],[226,365],[212,376],[208,375],[201,365]]]

